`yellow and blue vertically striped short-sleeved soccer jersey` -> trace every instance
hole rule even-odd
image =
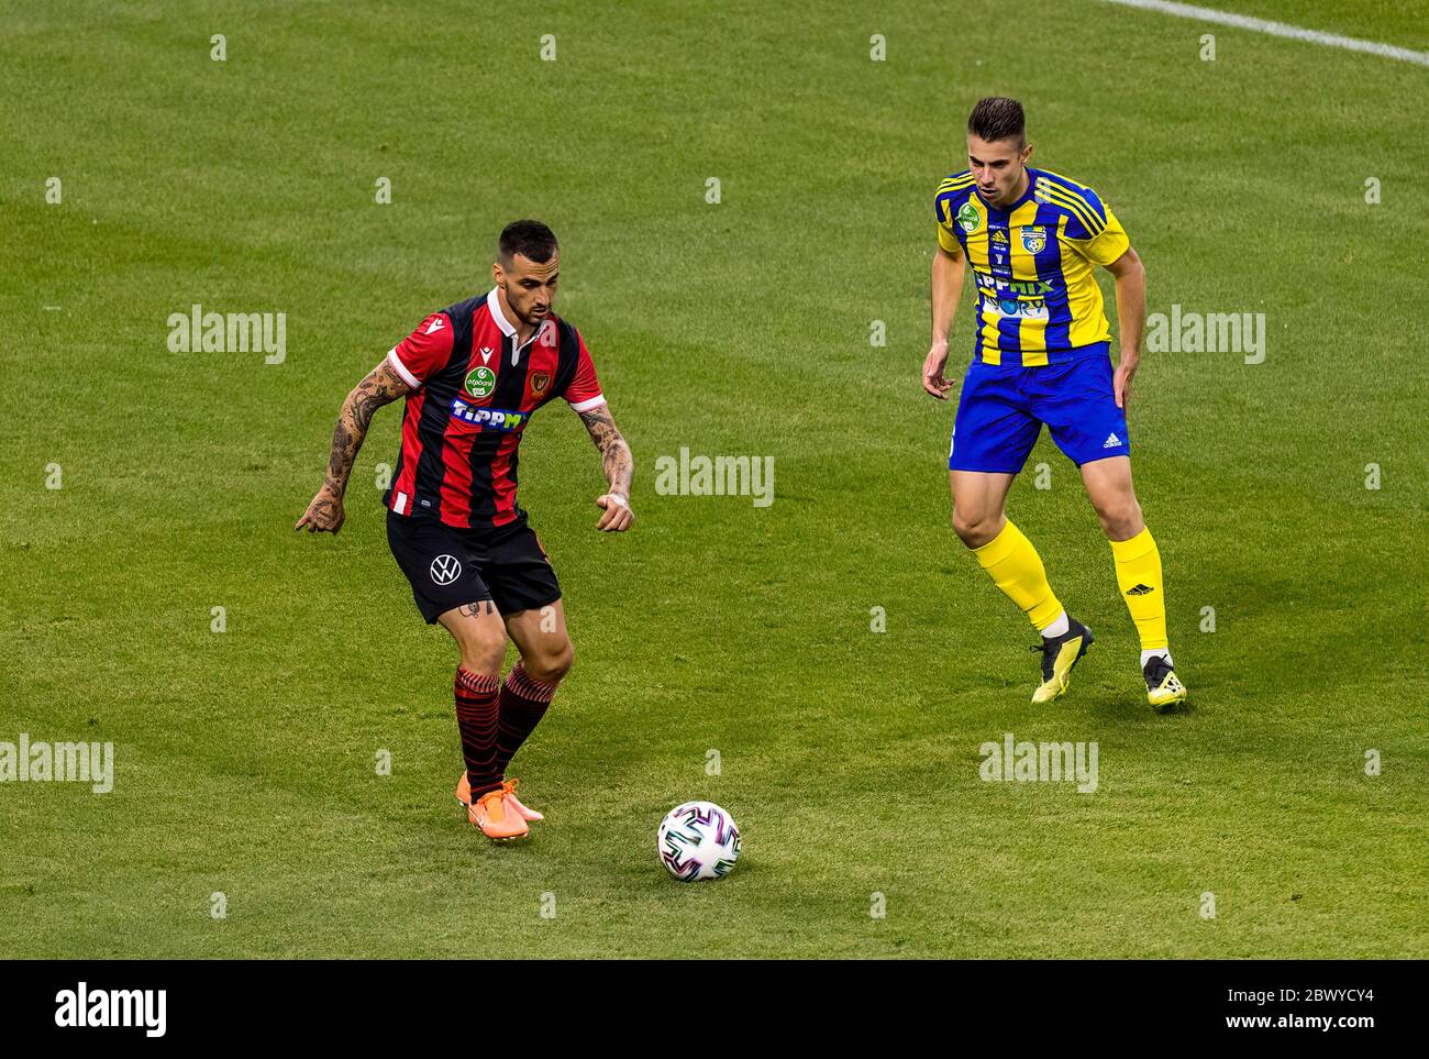
[[[1027,167],[1027,190],[989,206],[970,171],[937,187],[937,243],[965,253],[977,287],[973,359],[1037,367],[1110,342],[1093,264],[1130,247],[1116,214],[1090,187]]]

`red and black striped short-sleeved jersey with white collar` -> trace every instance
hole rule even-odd
[[[449,526],[523,519],[516,450],[532,413],[556,397],[576,412],[606,400],[580,332],[553,313],[517,346],[496,289],[429,316],[387,362],[416,392],[383,503]]]

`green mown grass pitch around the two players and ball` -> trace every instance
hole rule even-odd
[[[1423,3],[1223,6],[1429,49]],[[53,3],[0,16],[0,740],[117,766],[0,785],[0,955],[1429,956],[1425,67],[1093,0]],[[1046,436],[1009,510],[1097,633],[1053,706],[949,526],[930,203],[992,93],[1116,209],[1149,312],[1265,314],[1263,363],[1147,352],[1133,393],[1186,713]],[[637,523],[594,532],[597,456],[537,416],[577,662],[516,762],[550,819],[494,847],[386,546],[399,409],[343,533],[290,527],[343,394],[520,216]],[[170,352],[193,303],[284,313],[286,359]],[[682,446],[773,457],[775,503],[656,493]],[[1099,789],[982,782],[1005,732],[1096,740]],[[743,830],[714,885],[656,860],[692,797]]]

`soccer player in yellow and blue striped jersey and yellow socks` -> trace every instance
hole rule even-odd
[[[1172,669],[1160,555],[1132,489],[1126,400],[1140,360],[1146,270],[1122,223],[1090,187],[1027,166],[1022,104],[983,99],[967,120],[969,169],[942,182],[933,200],[933,344],[923,389],[952,389],[947,334],[972,264],[973,357],[963,376],[949,452],[953,527],[977,562],[1042,633],[1035,703],[1066,692],[1092,632],[1069,616],[1032,542],[1007,520],[1013,477],[1046,423],[1079,467],[1112,545],[1116,580],[1142,643],[1152,706],[1186,700]],[[1120,357],[1095,266],[1116,277]]]

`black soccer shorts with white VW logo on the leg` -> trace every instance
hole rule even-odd
[[[526,519],[496,529],[460,529],[389,510],[387,545],[427,625],[447,610],[487,599],[502,615],[560,599],[556,572]]]

